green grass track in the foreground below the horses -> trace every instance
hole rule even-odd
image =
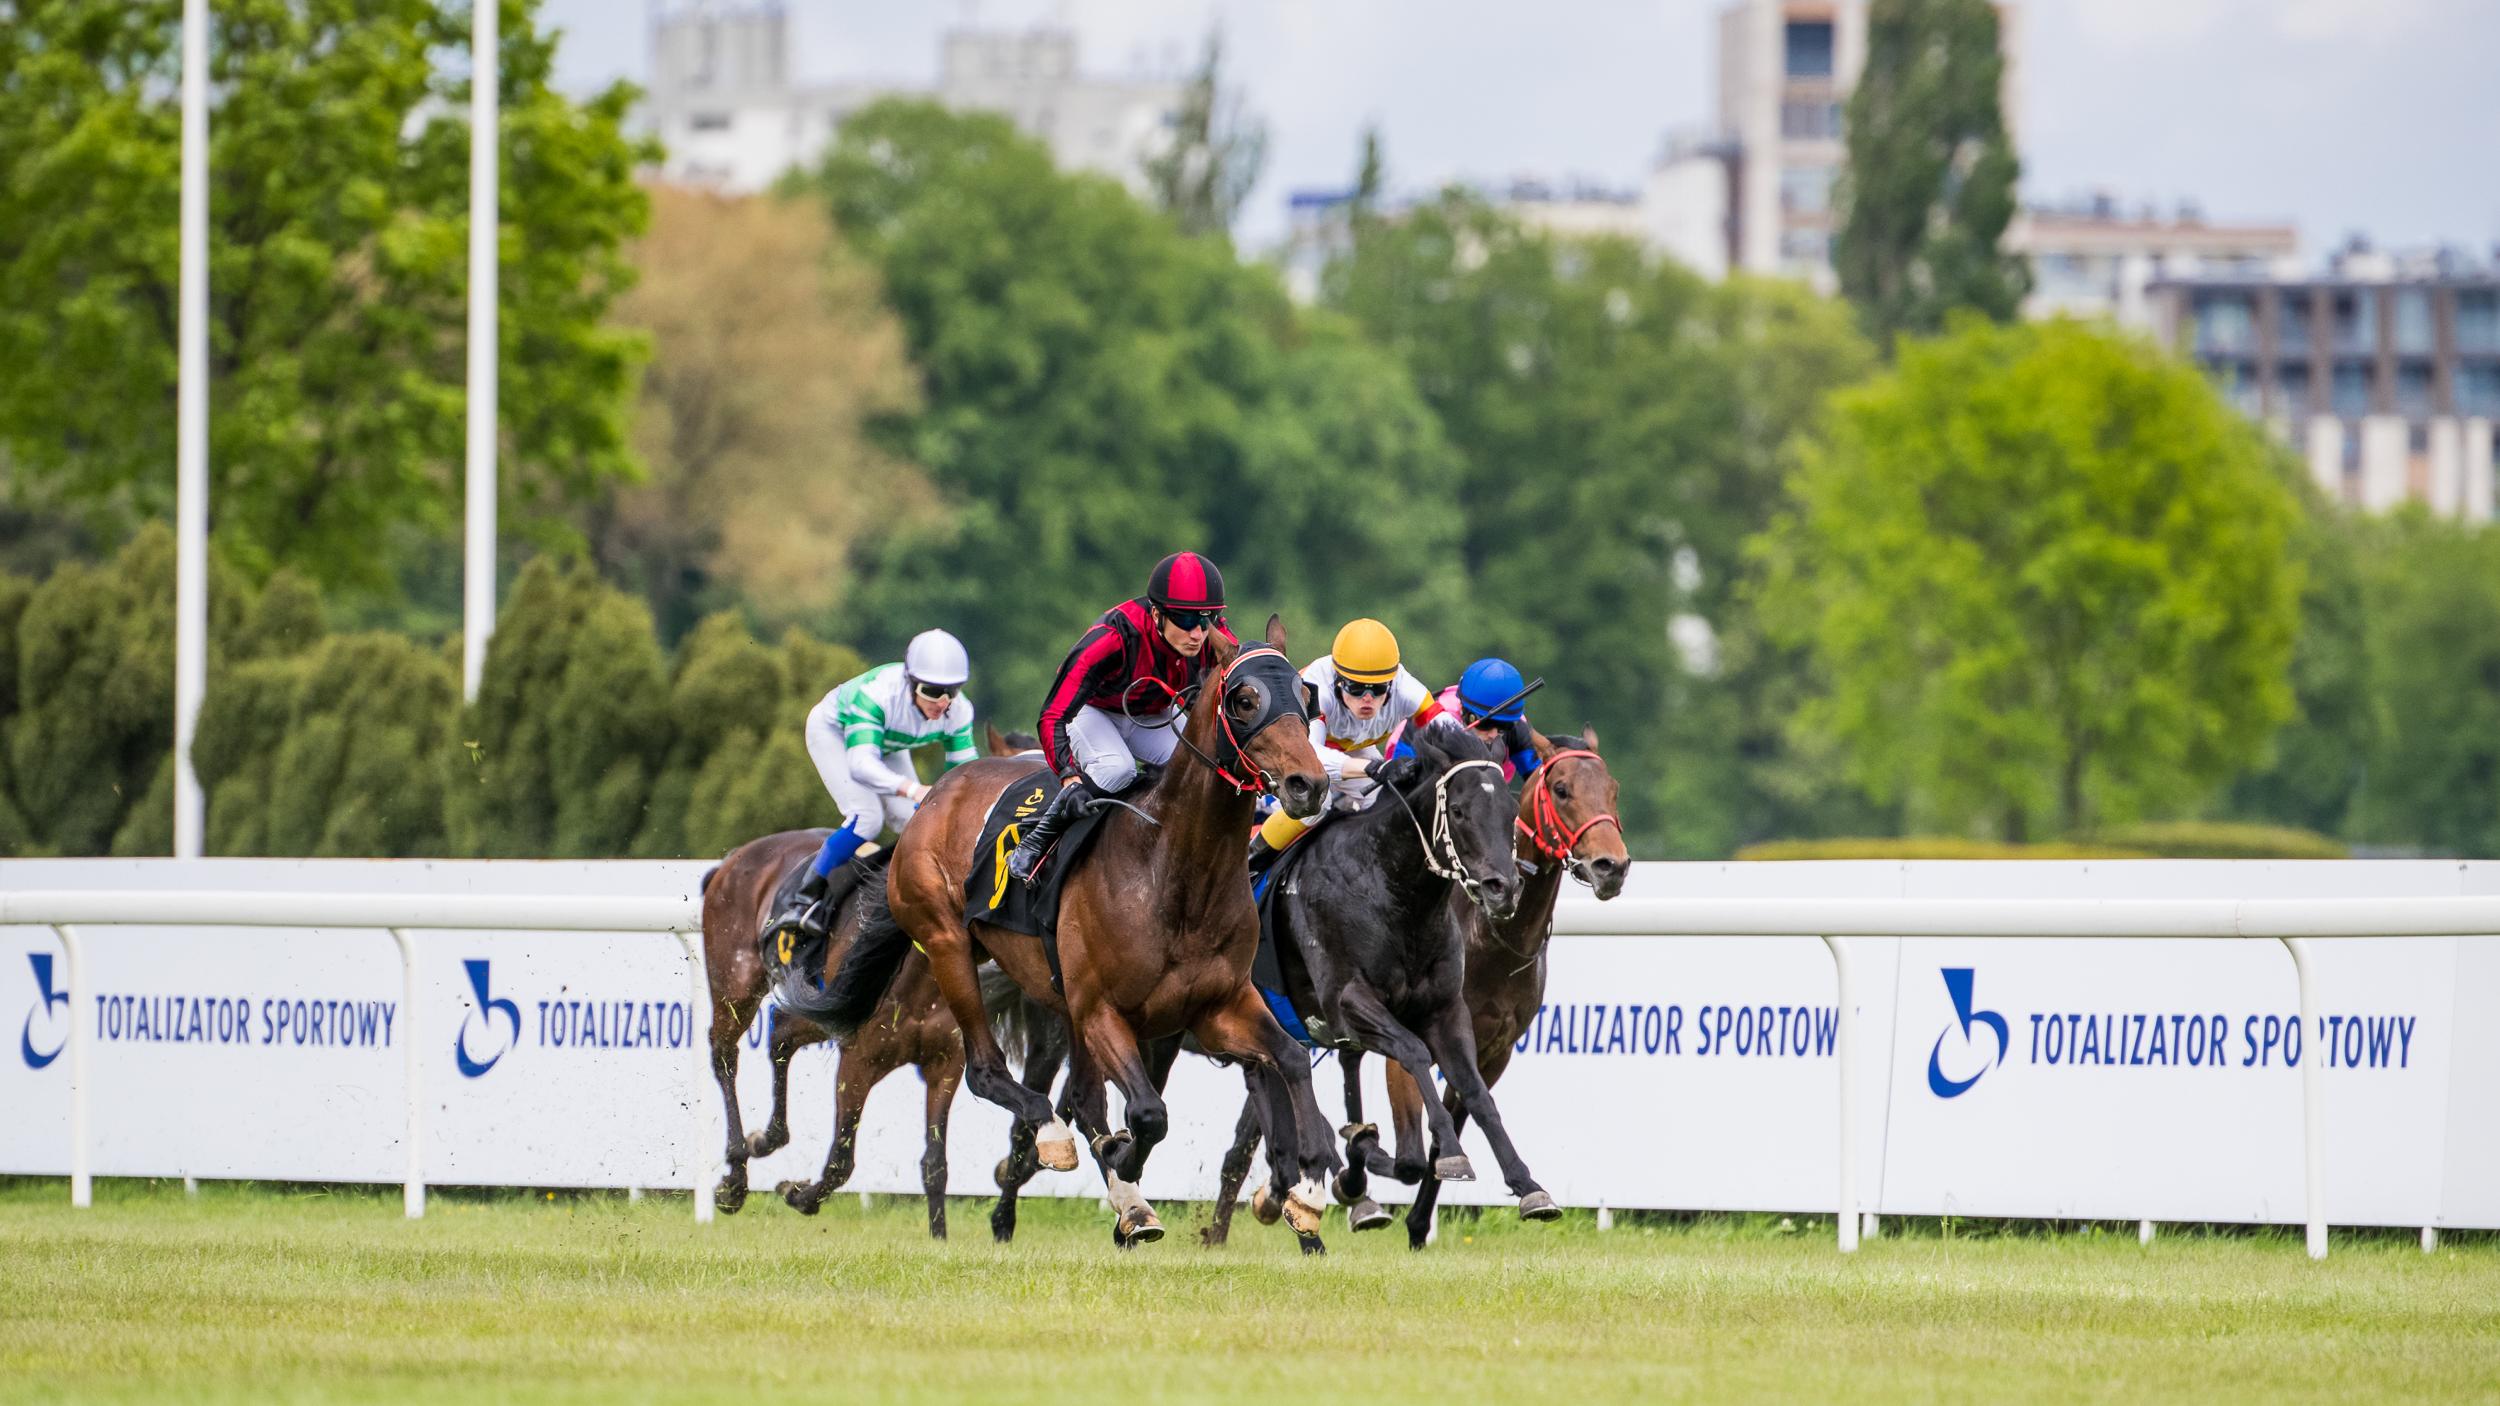
[[[2500,1243],[2298,1231],[1910,1236],[1778,1218],[992,1246],[958,1201],[0,1183],[0,1401],[2495,1401]]]

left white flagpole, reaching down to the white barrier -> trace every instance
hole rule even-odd
[[[182,0],[182,273],[175,383],[172,856],[200,858],[190,738],[208,690],[208,0]]]

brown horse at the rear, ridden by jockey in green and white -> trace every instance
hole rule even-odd
[[[990,756],[1015,756],[1025,751],[1018,738],[1000,738],[990,728]],[[1028,741],[1030,746],[1030,741]],[[730,851],[718,868],[702,876],[702,956],[705,976],[712,986],[712,1076],[720,1081],[720,1103],[728,1113],[728,1173],[720,1178],[715,1201],[720,1211],[735,1213],[748,1201],[748,1161],[770,1156],[790,1143],[790,1058],[838,1031],[775,1008],[770,1018],[768,1051],[772,1058],[772,1118],[760,1133],[745,1133],[738,1108],[738,1041],[755,1023],[765,1006],[770,973],[762,961],[760,933],[772,921],[775,898],[790,873],[810,863],[825,843],[828,831],[782,831],[760,841],[748,841]],[[825,946],[822,976],[830,981],[850,951],[852,938],[872,893],[885,891],[885,863],[890,853],[860,856],[858,888],[848,891],[832,913],[832,941]],[[880,903],[882,906],[882,903]],[[825,1196],[850,1181],[852,1153],[860,1133],[860,1113],[868,1093],[902,1066],[920,1068],[925,1083],[928,1146],[920,1156],[920,1181],[930,1206],[930,1236],[945,1238],[945,1133],[948,1113],[955,1106],[955,1086],[962,1078],[962,1038],[958,1038],[955,1013],[938,998],[928,961],[912,953],[895,973],[885,998],[870,1008],[855,1028],[840,1031],[842,1053],[835,1071],[832,1146],[825,1151],[825,1171],[815,1181],[782,1181],[782,1201],[800,1213],[815,1216]],[[1050,1011],[1012,1011],[1018,996],[1000,1001],[1000,1016],[1022,1033],[1025,1081],[1040,1091],[1050,1088],[1060,1061],[1068,1053],[1068,1026]],[[1068,1158],[1068,1171],[1075,1158]],[[990,1231],[1008,1238],[1015,1231],[1015,1191],[1040,1171],[1032,1138],[1020,1138],[1005,1161],[998,1163],[1000,1206],[990,1216]]]

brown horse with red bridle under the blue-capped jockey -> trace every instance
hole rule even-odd
[[[1490,1088],[1510,1068],[1510,1051],[1535,1023],[1545,1006],[1545,951],[1555,931],[1555,901],[1562,893],[1562,876],[1570,873],[1605,901],[1622,893],[1630,871],[1630,851],[1622,843],[1622,821],[1615,816],[1615,773],[1598,756],[1598,728],[1578,738],[1535,738],[1538,773],[1520,788],[1520,836],[1528,838],[1532,858],[1522,866],[1528,878],[1520,888],[1520,908],[1502,921],[1488,918],[1480,908],[1452,903],[1468,938],[1468,1013],[1475,1021],[1475,1071]],[[1408,1078],[1398,1063],[1388,1068],[1390,1121],[1398,1128],[1398,1158],[1382,1166],[1380,1141],[1368,1138],[1358,1151],[1370,1171],[1398,1181],[1420,1181],[1415,1206],[1408,1208],[1408,1246],[1422,1248],[1432,1233],[1432,1206],[1440,1201],[1440,1178],[1432,1176],[1442,1143],[1432,1141],[1432,1158],[1422,1156],[1422,1088]],[[1468,1103],[1452,1086],[1432,1111],[1448,1111],[1452,1138],[1468,1126]],[[1345,1118],[1362,1123],[1362,1053],[1345,1056]],[[1362,1208],[1352,1211],[1362,1223]]]

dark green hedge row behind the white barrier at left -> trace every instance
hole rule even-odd
[[[520,573],[460,703],[458,640],[328,633],[280,573],[210,583],[192,761],[218,856],[715,856],[832,821],[800,721],[860,655],[735,615],[660,650],[585,568]],[[172,848],[172,535],[0,575],[0,853]]]

